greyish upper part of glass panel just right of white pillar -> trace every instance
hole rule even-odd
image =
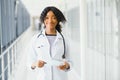
[[[88,15],[88,48],[104,53],[104,3],[101,0],[89,0]]]

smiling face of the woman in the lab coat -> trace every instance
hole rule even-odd
[[[46,28],[55,29],[58,21],[56,16],[52,11],[49,11],[44,19],[44,24]]]

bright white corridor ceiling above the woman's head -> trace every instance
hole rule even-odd
[[[64,9],[65,0],[21,0],[31,16],[39,16],[41,11],[49,5]]]

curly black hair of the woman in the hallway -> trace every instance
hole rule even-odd
[[[56,25],[56,30],[61,33],[62,30],[61,30],[61,25],[59,23],[60,22],[65,23],[66,18],[58,8],[54,6],[46,7],[40,15],[40,22],[44,23],[44,19],[49,11],[52,11],[55,14],[57,21],[58,21],[58,24]]]

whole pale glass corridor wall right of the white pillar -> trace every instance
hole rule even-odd
[[[120,80],[120,0],[86,0],[85,80]]]

